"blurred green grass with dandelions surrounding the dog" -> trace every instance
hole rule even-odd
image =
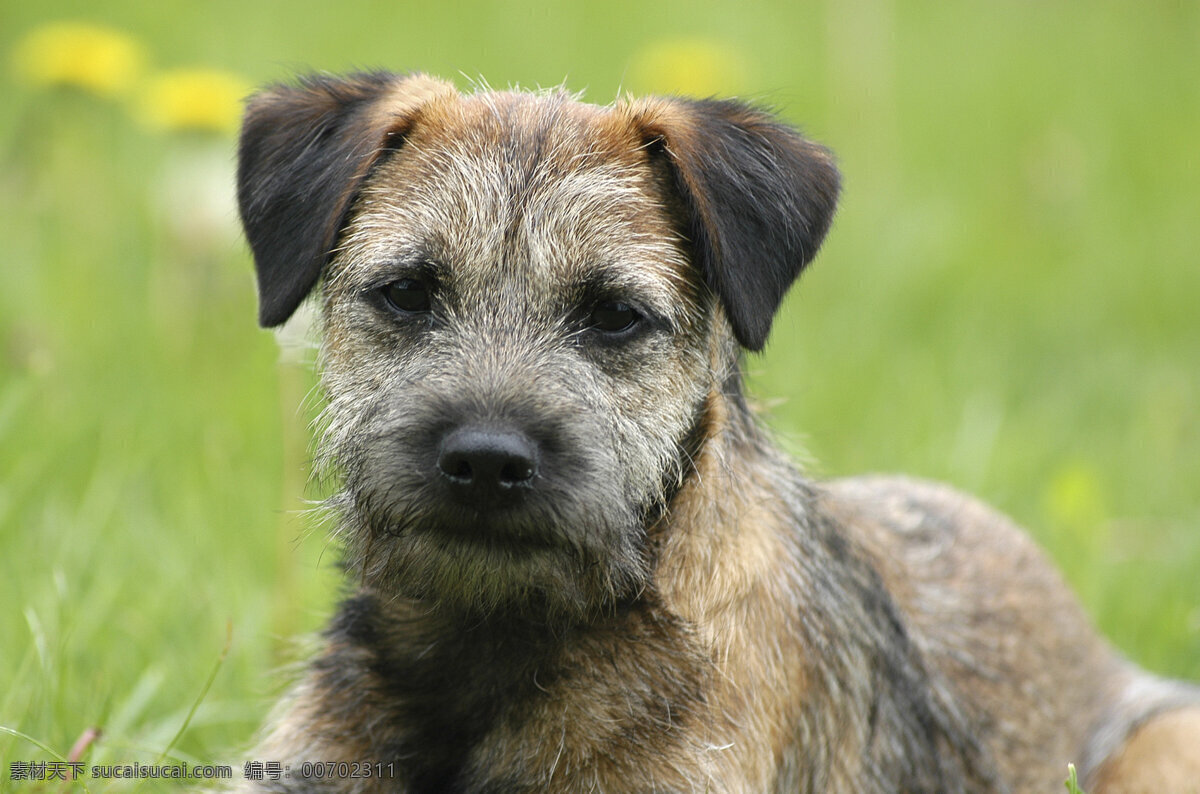
[[[60,756],[96,726],[89,764],[152,763],[199,700],[169,756],[245,760],[340,585],[300,513],[312,378],[254,326],[228,95],[376,66],[732,94],[829,144],[838,221],[748,362],[773,425],[820,475],[980,494],[1129,656],[1200,678],[1200,5],[0,0],[0,726]],[[64,20],[127,37],[73,66],[107,84],[35,62]],[[0,732],[0,786],[47,758]]]

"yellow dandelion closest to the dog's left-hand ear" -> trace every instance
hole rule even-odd
[[[163,72],[142,95],[142,115],[162,130],[234,132],[251,86],[236,74],[204,68]]]

